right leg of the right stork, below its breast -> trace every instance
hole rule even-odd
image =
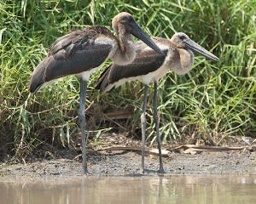
[[[156,138],[157,138],[157,146],[159,150],[159,161],[160,161],[160,167],[159,172],[164,173],[164,166],[163,166],[163,160],[162,160],[162,153],[161,153],[161,139],[160,139],[160,132],[159,132],[159,116],[157,113],[157,82],[154,82],[154,124],[155,124],[155,132],[156,132]]]

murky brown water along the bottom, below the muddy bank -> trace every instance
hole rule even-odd
[[[0,178],[0,203],[256,203],[256,175]]]

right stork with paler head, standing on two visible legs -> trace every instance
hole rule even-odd
[[[194,54],[201,54],[207,59],[218,61],[218,57],[202,48],[199,44],[191,40],[185,33],[177,32],[171,39],[163,37],[153,37],[153,41],[163,51],[163,54],[156,53],[148,48],[141,41],[136,43],[137,56],[129,65],[112,64],[102,72],[96,82],[96,89],[102,92],[110,92],[113,88],[119,87],[125,82],[140,80],[144,84],[143,89],[143,112],[141,115],[142,124],[142,171],[144,173],[144,151],[146,138],[146,116],[148,84],[154,82],[154,124],[159,150],[160,168],[159,172],[164,173],[163,161],[161,156],[161,139],[159,131],[159,116],[157,113],[157,82],[164,77],[167,71],[173,71],[177,75],[188,73],[194,63]],[[192,52],[193,51],[193,52]]]

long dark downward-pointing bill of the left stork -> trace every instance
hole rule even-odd
[[[159,54],[163,54],[163,51],[154,43],[154,41],[148,37],[148,35],[139,27],[137,26],[137,23],[131,23],[131,34],[139,39],[141,39],[143,42],[145,42],[148,47],[154,49],[155,52]]]

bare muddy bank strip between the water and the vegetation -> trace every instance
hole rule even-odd
[[[20,177],[69,177],[83,174],[81,161],[77,159],[54,159],[34,161],[26,164],[1,164],[0,178]],[[141,174],[141,156],[135,152],[102,152],[89,156],[89,172],[92,175]],[[146,156],[147,174],[157,174],[157,156]],[[179,173],[256,173],[256,154],[249,151],[201,152],[190,155],[172,152],[164,158],[166,175]]]

